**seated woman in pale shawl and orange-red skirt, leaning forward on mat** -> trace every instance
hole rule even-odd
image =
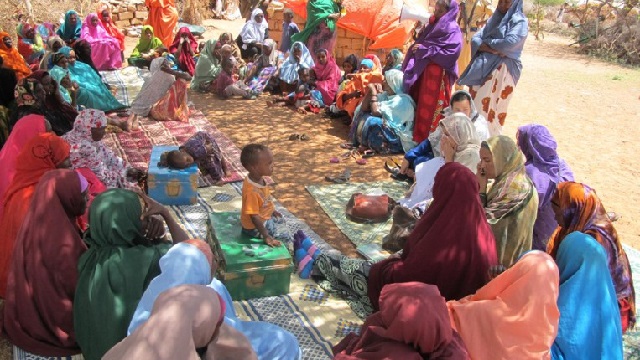
[[[188,121],[187,81],[191,76],[172,70],[169,61],[159,57],[151,62],[151,75],[131,103],[129,128],[138,129],[138,116],[150,116],[154,120]]]

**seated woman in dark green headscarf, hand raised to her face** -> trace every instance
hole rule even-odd
[[[144,209],[144,210],[143,210]],[[89,250],[78,262],[73,303],[76,340],[87,360],[100,359],[127,336],[127,328],[158,261],[171,243],[157,237],[166,222],[174,243],[188,236],[169,210],[146,195],[112,189],[98,195],[89,210]]]

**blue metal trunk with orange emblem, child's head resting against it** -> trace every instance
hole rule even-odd
[[[182,170],[158,167],[160,155],[178,150],[177,146],[154,146],[149,160],[149,196],[165,205],[195,204],[198,196],[198,166]]]

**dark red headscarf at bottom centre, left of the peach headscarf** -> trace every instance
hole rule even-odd
[[[360,335],[349,334],[333,351],[336,360],[470,359],[438,287],[419,282],[385,286],[380,311],[365,320]]]

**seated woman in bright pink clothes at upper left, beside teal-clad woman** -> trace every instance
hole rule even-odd
[[[102,27],[98,14],[87,15],[82,24],[80,38],[91,45],[91,60],[98,70],[115,70],[122,67],[120,43]]]

